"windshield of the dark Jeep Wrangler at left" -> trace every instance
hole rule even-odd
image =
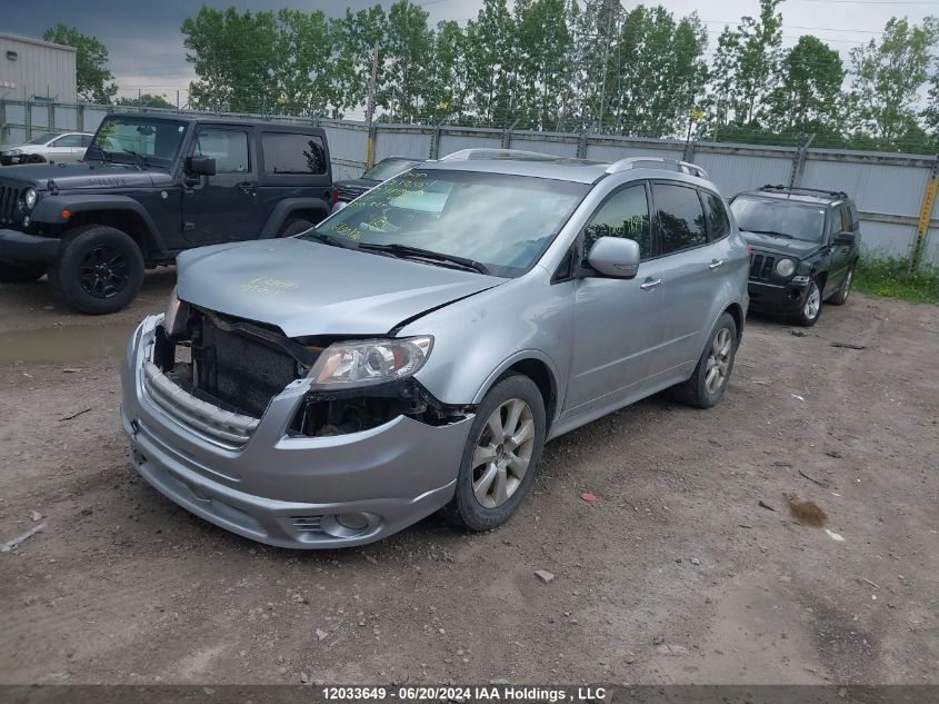
[[[101,122],[84,158],[168,167],[184,133],[184,122],[113,116]]]

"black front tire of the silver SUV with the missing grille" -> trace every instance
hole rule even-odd
[[[510,448],[507,438],[499,438],[496,442],[496,438],[492,437],[489,419],[498,409],[500,413],[499,417],[505,418],[503,423],[509,422],[510,408],[506,406],[519,400],[523,401],[530,412],[533,435],[530,444],[528,440],[525,440],[520,445]],[[503,407],[506,407],[505,414],[502,413]],[[518,418],[519,420],[525,419],[523,425],[528,423],[528,419],[526,419],[528,416],[525,410],[520,413]],[[545,447],[545,400],[541,398],[541,391],[538,390],[535,383],[520,374],[506,376],[498,381],[496,386],[489,389],[482,403],[477,407],[476,418],[470,427],[467,446],[463,449],[460,472],[457,475],[457,492],[453,499],[443,509],[444,516],[451,523],[470,531],[489,531],[508,520],[525,499],[528,490],[531,488],[531,483],[535,480],[538,464],[541,460],[541,450]],[[493,456],[498,456],[499,459],[473,467],[473,464],[476,464],[473,458],[478,444],[480,443],[489,444],[493,448]],[[515,456],[513,454],[520,448],[522,448],[520,455],[528,455],[528,466],[521,479],[518,479],[512,470],[509,469],[509,466],[512,464],[509,460],[509,456]],[[502,466],[502,469],[498,469],[500,463],[503,462],[506,464]],[[502,486],[507,487],[508,498],[498,505],[485,506],[477,498],[477,494],[473,490],[473,482],[480,480],[490,470],[495,473],[495,478],[487,486],[491,486],[493,497],[500,485],[500,477],[505,477],[505,484]],[[486,498],[489,500],[490,497],[487,496]]]

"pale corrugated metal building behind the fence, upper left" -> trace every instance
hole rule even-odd
[[[0,99],[76,102],[76,50],[0,33]]]

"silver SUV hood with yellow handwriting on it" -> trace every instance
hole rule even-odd
[[[288,337],[383,335],[506,280],[297,238],[190,249],[178,265],[182,300]]]

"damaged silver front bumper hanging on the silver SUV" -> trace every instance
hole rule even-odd
[[[154,373],[161,320],[143,320],[129,343],[121,425],[138,472],[180,506],[269,545],[333,548],[381,539],[452,498],[472,415],[298,437],[288,428],[309,380],[289,384],[260,418],[212,407]]]

